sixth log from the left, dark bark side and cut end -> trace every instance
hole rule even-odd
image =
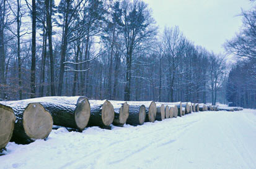
[[[143,125],[146,119],[145,105],[136,102],[127,102],[129,104],[129,117],[126,123],[129,125]]]

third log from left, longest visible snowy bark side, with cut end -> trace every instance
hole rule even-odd
[[[39,102],[51,114],[53,124],[84,130],[90,118],[90,104],[86,97],[51,96],[25,99],[24,102]]]

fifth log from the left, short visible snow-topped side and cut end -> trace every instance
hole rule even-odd
[[[110,101],[114,107],[114,125],[124,125],[129,116],[129,105],[125,101]]]

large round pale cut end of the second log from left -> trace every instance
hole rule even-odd
[[[53,128],[53,118],[40,103],[31,103],[24,110],[23,126],[29,138],[44,139]]]

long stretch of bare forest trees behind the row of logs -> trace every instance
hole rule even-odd
[[[2,99],[225,100],[224,56],[159,33],[143,1],[0,2]]]

